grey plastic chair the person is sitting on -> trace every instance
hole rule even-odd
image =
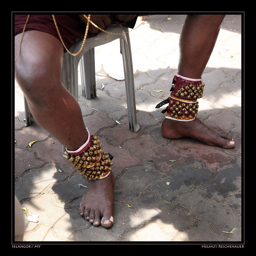
[[[77,56],[72,56],[69,53],[64,53],[63,67],[62,67],[62,83],[69,90],[69,92],[78,101],[78,63],[80,63],[81,81],[83,97],[91,99],[96,97],[96,82],[95,82],[95,59],[94,59],[94,47],[103,45],[120,38],[121,53],[123,57],[123,68],[125,75],[125,88],[127,98],[127,110],[129,119],[129,129],[133,132],[139,130],[136,117],[136,105],[135,105],[135,91],[134,91],[134,77],[133,77],[133,63],[131,57],[131,46],[128,28],[121,25],[112,25],[106,29],[111,33],[121,33],[120,35],[108,34],[101,32],[97,37],[87,38],[82,52]],[[72,46],[69,51],[71,53],[77,53],[82,45],[83,40],[77,41],[76,45]],[[25,115],[26,125],[29,126],[34,122],[25,103]],[[63,156],[65,147],[63,146]]]

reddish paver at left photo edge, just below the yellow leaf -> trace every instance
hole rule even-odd
[[[34,152],[31,150],[21,149],[17,146],[14,147],[14,150],[14,171],[18,176],[24,174],[26,170],[29,171],[30,169],[37,168],[46,163],[46,161],[37,159]]]

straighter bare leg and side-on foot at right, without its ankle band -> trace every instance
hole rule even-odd
[[[187,16],[180,36],[180,58],[177,72],[179,75],[193,79],[202,77],[224,17],[225,15]],[[235,146],[232,138],[218,126],[208,127],[198,118],[189,122],[164,118],[162,134],[170,139],[192,137],[211,146],[224,148]]]

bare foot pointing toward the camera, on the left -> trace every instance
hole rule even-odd
[[[89,181],[89,188],[82,198],[79,212],[94,226],[101,224],[103,227],[110,227],[113,224],[114,183],[112,171],[106,178]]]

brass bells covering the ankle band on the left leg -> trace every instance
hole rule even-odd
[[[84,175],[86,179],[98,179],[103,177],[112,170],[110,166],[113,162],[109,159],[109,155],[106,152],[102,152],[102,145],[97,136],[93,136],[92,146],[86,151],[84,150],[81,155],[69,155],[65,151],[66,159],[72,163],[72,167],[77,167],[77,170]]]

